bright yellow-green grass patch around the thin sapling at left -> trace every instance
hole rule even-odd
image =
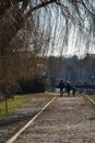
[[[14,100],[8,100],[8,113],[5,113],[4,101],[0,102],[0,118],[13,114],[19,106],[31,102],[32,96],[15,96]]]

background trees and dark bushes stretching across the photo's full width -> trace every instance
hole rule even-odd
[[[23,54],[27,55],[26,58],[21,63],[24,66],[24,70],[21,70],[23,75],[20,76],[20,78],[17,78],[15,82],[5,81],[2,82],[0,86],[5,105],[9,98],[14,99],[15,94],[24,95],[24,94],[44,92],[46,89],[51,87],[52,78],[55,78],[56,81],[59,81],[59,79],[63,79],[64,81],[70,80],[72,84],[76,82],[91,84],[92,81],[94,84],[95,55],[90,55],[87,53],[86,56],[81,59],[79,59],[76,56],[68,58],[62,56],[61,57],[38,56],[34,58],[35,59],[34,68],[25,70],[27,69],[26,65],[28,65],[28,57],[31,53],[22,52],[22,57],[24,58],[25,55]],[[17,68],[21,68],[21,65]],[[33,73],[34,75],[31,75]],[[57,84],[58,82],[56,82],[56,85]]]

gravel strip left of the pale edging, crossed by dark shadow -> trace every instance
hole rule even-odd
[[[0,143],[5,143],[17,132],[32,117],[34,117],[47,102],[49,98],[32,98],[32,102],[21,106],[14,116],[0,119]]]

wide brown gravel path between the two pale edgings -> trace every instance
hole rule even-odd
[[[58,98],[15,143],[95,143],[95,109],[83,97]]]

